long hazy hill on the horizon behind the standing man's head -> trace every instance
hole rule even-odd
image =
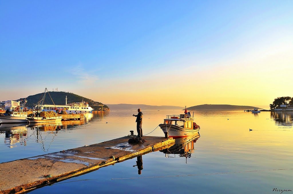
[[[155,106],[145,104],[107,104],[111,110],[181,110],[182,106]]]

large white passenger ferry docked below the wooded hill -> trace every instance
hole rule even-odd
[[[67,104],[67,96],[65,98],[66,105],[42,105],[41,110],[42,111],[54,111],[56,112],[56,110],[58,109],[59,112],[66,111],[67,113],[73,113],[73,114],[77,114],[77,113],[91,113],[93,112],[93,108],[91,108],[90,106],[88,106],[88,103],[85,101],[82,102],[78,102],[78,103],[68,103]]]

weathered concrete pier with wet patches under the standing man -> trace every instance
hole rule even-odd
[[[0,163],[0,193],[23,193],[64,179],[169,148],[172,138],[144,136],[146,142],[128,144],[122,137],[93,145]]]

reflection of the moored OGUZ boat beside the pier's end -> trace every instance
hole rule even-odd
[[[160,152],[163,152],[167,158],[185,157],[187,164],[187,158],[191,157],[191,153],[193,153],[194,150],[194,143],[198,138],[200,138],[199,133],[182,138],[176,138],[174,146],[160,150]]]

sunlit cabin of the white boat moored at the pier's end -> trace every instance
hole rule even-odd
[[[177,125],[185,129],[193,129],[193,119],[189,115],[167,115],[164,124]]]

